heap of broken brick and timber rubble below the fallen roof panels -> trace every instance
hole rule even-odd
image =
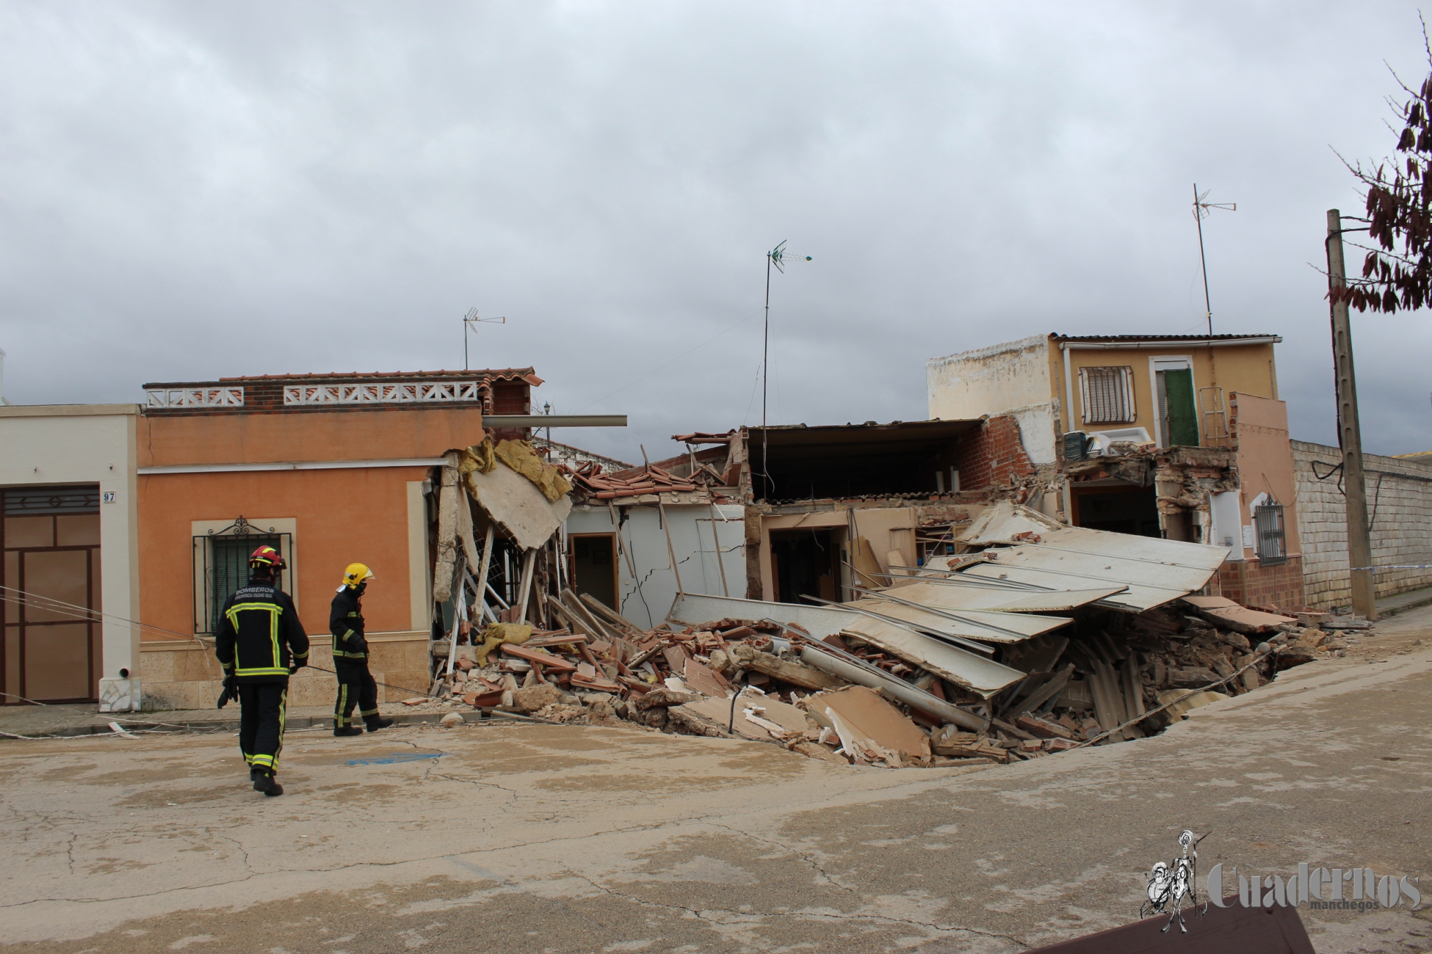
[[[1151,735],[1346,645],[1317,619],[1303,625],[1220,597],[1137,615],[1084,607],[1065,627],[1001,646],[1001,662],[1027,675],[979,693],[859,633],[816,639],[769,617],[642,629],[570,589],[541,599],[561,629],[463,623],[455,649],[432,645],[432,698],[407,703],[758,739],[892,768],[1007,763]]]

